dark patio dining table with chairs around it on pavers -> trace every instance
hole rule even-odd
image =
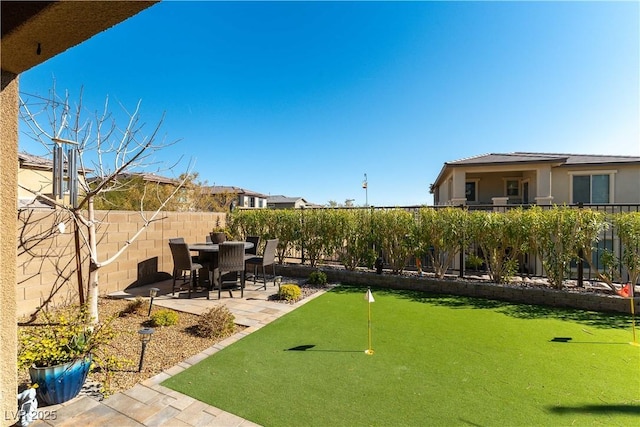
[[[272,277],[275,278],[278,239],[267,240],[263,250],[259,251],[258,236],[247,236],[245,241],[217,238],[214,243],[214,237],[217,236],[213,234],[206,236],[204,243],[188,244],[182,237],[169,239],[173,257],[172,294],[175,295],[176,289],[186,286],[188,297],[191,298],[192,291],[205,288],[209,299],[209,293],[217,288],[218,299],[223,289],[228,290],[233,298],[232,290],[239,288],[240,297],[243,298],[247,275],[252,276],[255,284],[259,268],[263,282],[261,288],[266,290],[267,267],[271,267]]]

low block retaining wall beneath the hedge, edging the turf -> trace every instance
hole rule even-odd
[[[314,270],[317,269],[304,265],[283,264],[276,266],[276,274],[288,277],[308,277],[309,273]],[[439,280],[424,276],[375,274],[374,272],[349,271],[332,267],[320,267],[320,270],[326,273],[327,279],[331,282],[460,295],[549,307],[631,313],[631,304],[628,298],[600,292],[557,290],[524,285],[497,285],[471,280]],[[640,299],[635,301],[635,311],[640,311]]]

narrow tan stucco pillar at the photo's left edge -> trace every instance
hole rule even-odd
[[[16,324],[16,235],[18,172],[18,78],[2,71],[0,92],[0,414],[2,425],[16,420],[17,324]],[[7,238],[9,237],[9,238]],[[7,419],[9,418],[9,419]]]

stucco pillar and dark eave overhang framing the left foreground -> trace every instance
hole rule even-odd
[[[2,1],[0,16],[0,222],[17,236],[19,75],[157,3]],[[17,390],[16,241],[0,239],[0,411],[15,413]],[[13,412],[12,412],[13,411]],[[3,417],[0,425],[14,424]]]

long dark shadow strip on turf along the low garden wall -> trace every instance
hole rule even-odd
[[[367,287],[361,285],[343,284],[334,288],[331,292],[337,293],[362,293],[364,296]],[[621,313],[601,313],[597,311],[563,309],[558,307],[546,307],[542,305],[517,304],[506,301],[490,300],[483,298],[471,298],[466,296],[453,296],[432,294],[428,292],[372,288],[374,295],[394,295],[411,301],[458,309],[492,309],[518,319],[558,319],[578,322],[594,328],[627,329],[632,326],[632,319]]]

